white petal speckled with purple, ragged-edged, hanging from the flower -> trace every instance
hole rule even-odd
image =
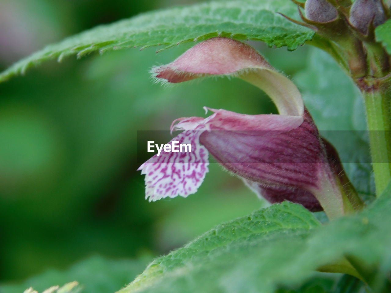
[[[165,152],[154,155],[138,170],[145,174],[145,198],[187,197],[197,191],[208,172],[208,150],[199,143],[202,131],[187,130],[173,138],[192,146],[191,152]]]

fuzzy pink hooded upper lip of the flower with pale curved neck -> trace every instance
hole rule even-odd
[[[183,82],[208,75],[240,77],[270,96],[281,115],[302,116],[304,104],[294,83],[276,71],[254,48],[233,39],[212,38],[170,64],[152,68],[160,81]]]

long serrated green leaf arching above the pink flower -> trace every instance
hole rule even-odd
[[[69,55],[81,57],[94,51],[102,53],[158,45],[162,45],[163,50],[186,41],[217,36],[264,41],[269,46],[287,46],[294,50],[312,39],[312,30],[296,25],[276,12],[294,18],[297,7],[289,0],[231,0],[144,13],[49,45],[1,73],[0,82],[23,74],[29,67],[43,61],[61,61]]]

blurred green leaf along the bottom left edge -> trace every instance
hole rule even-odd
[[[0,286],[0,292],[21,293],[27,287],[32,287],[40,292],[50,286],[64,284],[72,280],[77,280],[81,284],[83,293],[114,292],[142,272],[149,260],[149,257],[140,260],[109,260],[99,256],[90,257],[75,264],[65,272],[49,270],[26,280],[22,284]],[[54,292],[65,293],[68,291],[61,291],[60,288]],[[73,293],[74,291],[69,292]]]

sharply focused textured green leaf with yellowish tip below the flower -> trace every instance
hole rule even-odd
[[[242,257],[248,256],[243,252],[249,249],[258,250],[267,243],[283,239],[289,239],[291,245],[297,245],[300,239],[319,225],[320,223],[314,216],[301,205],[290,202],[260,209],[249,216],[218,225],[185,247],[156,259],[135,281],[119,292],[128,293],[134,290],[149,292],[149,289],[154,291],[157,287],[161,290],[163,287],[166,288],[161,286],[161,282],[166,283],[169,278],[175,279],[178,276],[185,277],[188,273],[194,275],[195,278],[206,277],[203,276],[204,270],[208,270],[208,272],[215,269],[221,271],[232,261],[240,262]],[[262,254],[267,254],[267,251],[268,249],[264,250]],[[213,275],[211,274],[207,278],[213,278]],[[203,282],[203,284],[205,283]],[[199,285],[203,286],[203,284]],[[210,289],[217,289],[212,284],[213,282]],[[169,289],[171,284],[167,286]],[[195,289],[199,292],[214,292],[214,289],[210,291],[207,288],[186,287],[186,289],[181,289],[182,292],[192,292],[187,290]]]

